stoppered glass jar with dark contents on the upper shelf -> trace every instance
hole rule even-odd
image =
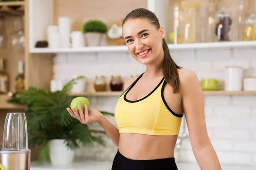
[[[221,4],[220,10],[215,16],[215,34],[217,41],[230,41],[230,28],[232,19],[225,3]]]

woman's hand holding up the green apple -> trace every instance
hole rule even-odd
[[[87,105],[84,105],[84,113],[81,108],[81,105],[78,105],[78,111],[76,111],[76,108],[67,108],[67,111],[70,113],[70,115],[73,118],[78,119],[82,124],[88,124],[93,122],[99,122],[100,119],[102,119],[103,114],[97,111],[96,109],[90,108],[87,109]]]

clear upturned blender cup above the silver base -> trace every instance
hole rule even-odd
[[[28,150],[25,113],[7,113],[3,131],[3,150]]]

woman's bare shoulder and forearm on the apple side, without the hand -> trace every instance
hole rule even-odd
[[[134,77],[132,79],[129,79],[127,82],[124,84],[124,91],[130,87],[130,85],[137,79],[137,77]],[[108,119],[105,116],[102,116],[101,119],[99,120],[99,125],[103,127],[107,135],[110,137],[110,139],[116,144],[118,147],[119,145],[119,130],[111,124],[111,122],[108,121]]]

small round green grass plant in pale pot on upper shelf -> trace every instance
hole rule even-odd
[[[108,27],[101,20],[88,20],[84,23],[82,32],[85,35],[88,46],[100,46],[104,43]]]

